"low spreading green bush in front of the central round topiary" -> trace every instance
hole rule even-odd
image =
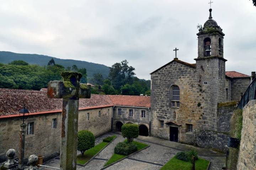
[[[119,142],[114,148],[114,153],[119,155],[129,155],[137,151],[137,146],[133,143]]]

